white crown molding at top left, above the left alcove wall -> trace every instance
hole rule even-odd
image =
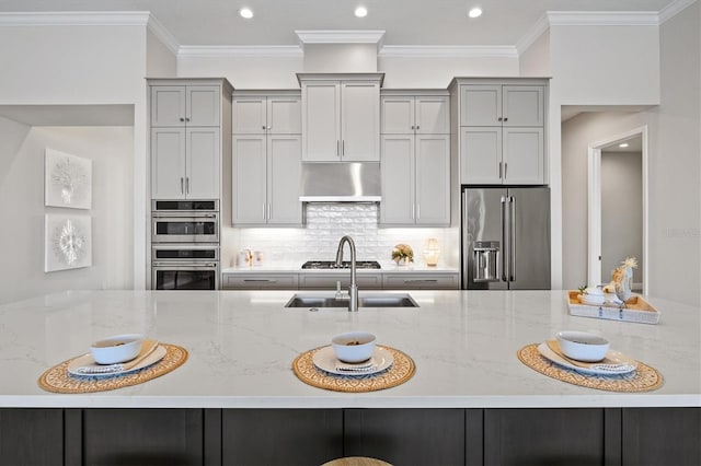
[[[0,12],[0,26],[146,26],[148,11]]]

